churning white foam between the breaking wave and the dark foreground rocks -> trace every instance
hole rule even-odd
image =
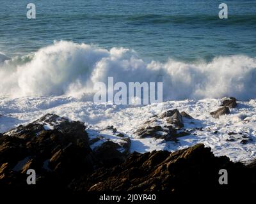
[[[19,124],[28,124],[47,113],[55,113],[70,120],[85,122],[88,134],[93,136],[97,129],[114,126],[118,131],[131,138],[131,152],[152,150],[178,150],[196,143],[211,147],[216,156],[228,156],[233,161],[248,161],[256,157],[256,100],[238,101],[237,108],[230,109],[229,115],[214,119],[210,112],[220,108],[220,99],[202,99],[199,101],[166,101],[147,106],[95,105],[68,96],[5,98],[0,97],[0,133]],[[185,129],[195,129],[191,135],[180,137],[179,142],[165,142],[155,138],[138,138],[134,131],[144,122],[152,120],[166,110],[177,108],[189,113],[195,120],[184,119]],[[193,123],[191,123],[193,122]],[[51,126],[47,126],[51,129]],[[202,129],[201,129],[202,128]],[[217,134],[214,132],[217,131]],[[228,135],[237,133],[237,135]],[[252,141],[241,144],[242,135]],[[105,139],[108,134],[102,133]],[[100,133],[100,136],[102,136]],[[235,141],[228,141],[237,137]],[[95,144],[97,145],[97,144]]]

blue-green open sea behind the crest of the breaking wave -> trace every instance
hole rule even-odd
[[[30,2],[30,1],[29,1]],[[0,49],[9,56],[35,52],[54,40],[125,47],[143,58],[211,60],[256,54],[256,1],[74,0],[36,1],[36,19],[26,18],[28,1],[1,0]]]

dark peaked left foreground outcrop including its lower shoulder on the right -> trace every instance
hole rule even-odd
[[[92,150],[85,129],[81,122],[47,114],[4,133],[0,136],[0,185],[26,185],[26,171],[32,168],[39,183],[51,185],[53,177],[58,187],[66,188],[79,175],[125,161],[129,138],[123,137],[120,144],[104,141]]]

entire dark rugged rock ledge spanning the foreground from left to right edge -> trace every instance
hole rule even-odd
[[[182,117],[189,115],[173,110],[161,115],[163,119],[166,117],[172,121],[172,127],[180,128]],[[176,152],[129,155],[129,139],[113,127],[107,129],[122,142],[103,141],[92,149],[90,144],[95,141],[88,138],[85,129],[81,122],[47,114],[27,126],[0,135],[0,187],[18,191],[31,187],[52,191],[58,187],[68,192],[161,191],[175,194],[207,187],[225,192],[256,186],[255,161],[248,166],[233,163],[228,157],[215,157],[203,144]],[[29,168],[36,170],[35,186],[26,184]],[[228,171],[228,186],[220,186],[218,182],[221,169]]]

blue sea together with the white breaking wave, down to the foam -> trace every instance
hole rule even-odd
[[[164,99],[256,96],[256,1],[1,0],[0,95],[92,98],[95,82],[164,82]],[[10,58],[8,58],[10,57]],[[8,60],[6,60],[8,59]]]

